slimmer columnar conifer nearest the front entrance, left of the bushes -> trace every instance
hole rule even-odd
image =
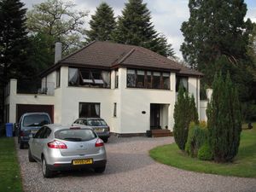
[[[193,106],[194,105],[194,106]],[[192,115],[193,113],[193,115]],[[178,148],[185,149],[189,133],[189,123],[191,121],[198,123],[198,114],[195,108],[194,96],[189,97],[188,91],[183,86],[179,87],[177,93],[177,102],[174,106],[174,127],[173,134]]]

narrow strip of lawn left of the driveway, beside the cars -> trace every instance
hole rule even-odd
[[[0,191],[23,191],[14,137],[0,137]]]

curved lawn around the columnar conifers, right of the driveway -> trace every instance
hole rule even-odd
[[[149,154],[160,163],[192,172],[256,177],[256,123],[253,124],[253,130],[241,132],[239,151],[232,163],[218,164],[213,161],[190,158],[177,148],[176,143],[153,148]]]

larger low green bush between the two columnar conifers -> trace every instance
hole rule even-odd
[[[189,136],[185,146],[185,151],[191,157],[197,157],[199,148],[207,141],[207,129],[194,122],[189,125]]]

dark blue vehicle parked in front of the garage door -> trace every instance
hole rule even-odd
[[[51,124],[48,113],[24,113],[20,117],[20,122],[17,126],[18,143],[20,148],[24,148],[29,141],[29,135],[35,135],[43,126]]]

